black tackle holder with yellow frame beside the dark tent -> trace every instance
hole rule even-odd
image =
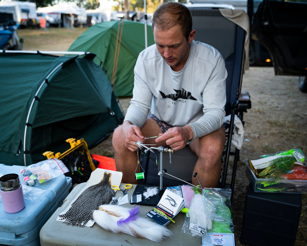
[[[75,138],[68,138],[66,142],[70,144],[70,149],[64,153],[54,155],[53,152],[46,151],[43,155],[47,159],[58,158],[61,160],[69,170],[65,175],[72,178],[73,185],[86,182],[90,178],[91,172],[96,169],[87,143],[83,138],[77,141]]]

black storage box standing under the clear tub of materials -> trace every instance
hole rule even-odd
[[[294,245],[301,206],[300,194],[256,193],[249,185],[241,243],[250,246]]]

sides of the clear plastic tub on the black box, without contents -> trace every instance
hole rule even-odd
[[[248,160],[245,160],[245,173],[255,192],[307,193],[307,180],[280,179],[276,182],[273,179],[257,178]]]

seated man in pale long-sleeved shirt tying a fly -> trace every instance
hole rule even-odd
[[[136,183],[135,142],[159,135],[145,144],[169,145],[175,151],[189,144],[198,157],[193,173],[202,186],[216,187],[225,144],[224,60],[212,46],[193,41],[191,13],[180,3],[161,4],[153,14],[152,30],[155,45],[139,54],[133,98],[113,133],[116,168],[123,182]]]

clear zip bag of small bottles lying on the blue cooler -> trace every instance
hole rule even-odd
[[[41,161],[20,170],[26,185],[41,185],[63,173],[69,172],[62,161],[57,158]]]

